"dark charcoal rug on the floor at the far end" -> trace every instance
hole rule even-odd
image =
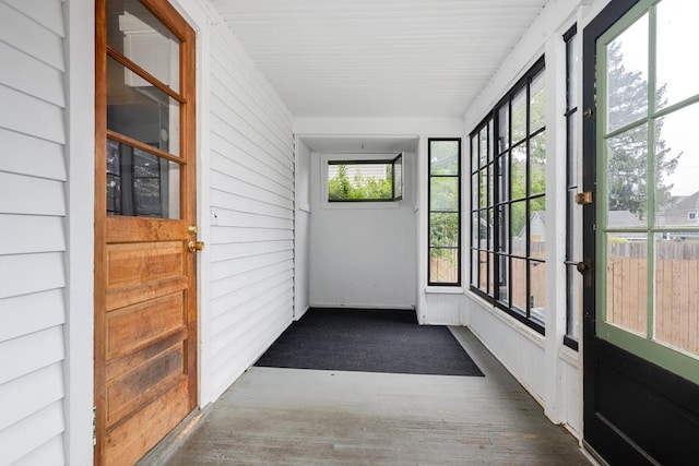
[[[483,377],[449,328],[402,310],[309,309],[256,366]]]

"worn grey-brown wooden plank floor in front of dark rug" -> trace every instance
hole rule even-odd
[[[165,464],[591,464],[467,330],[452,331],[485,378],[253,367]]]

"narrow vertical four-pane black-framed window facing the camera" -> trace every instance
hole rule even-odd
[[[461,286],[461,139],[428,141],[428,285]]]

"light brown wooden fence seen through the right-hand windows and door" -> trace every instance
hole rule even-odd
[[[517,249],[516,249],[517,248]],[[534,258],[544,258],[544,243],[530,247]],[[513,244],[516,254],[523,254],[522,244]],[[520,251],[521,249],[521,251]],[[495,255],[479,256],[479,287],[494,292],[498,280],[493,274]],[[490,263],[489,263],[490,262]],[[488,267],[489,266],[489,267]],[[526,294],[526,262],[512,259],[512,276],[501,282],[500,294],[511,303],[526,309],[544,307],[546,264],[530,264],[530,294]],[[659,241],[655,243],[653,279],[655,307],[655,339],[685,351],[699,354],[699,242]],[[648,330],[648,248],[645,243],[611,243],[607,258],[607,320],[623,328],[645,335]]]

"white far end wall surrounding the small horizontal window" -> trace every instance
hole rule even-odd
[[[403,154],[401,201],[388,206],[323,203],[323,159],[357,157],[366,156],[316,153],[311,158],[310,303],[412,309],[417,266],[413,210],[415,154]]]

